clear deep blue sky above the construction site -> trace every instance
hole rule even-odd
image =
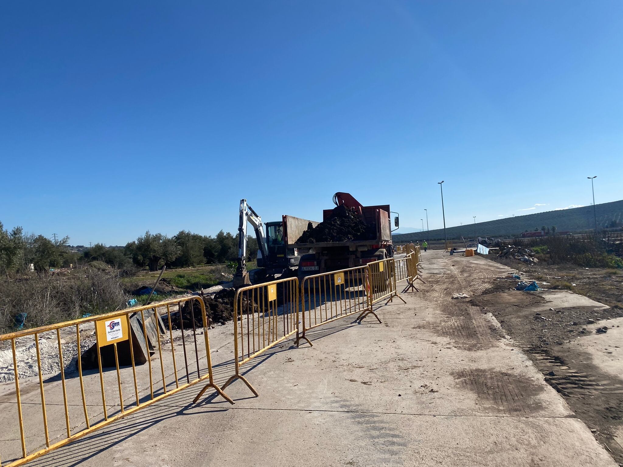
[[[235,232],[241,197],[320,219],[336,191],[435,229],[442,179],[447,225],[588,205],[592,175],[619,200],[622,18],[619,0],[4,2],[0,221],[115,245]]]

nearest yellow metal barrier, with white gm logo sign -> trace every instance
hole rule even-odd
[[[183,310],[186,315],[191,314],[186,330]],[[166,315],[168,332],[160,314]],[[173,326],[178,329],[174,331]],[[203,301],[187,296],[0,336],[0,345],[11,342],[19,426],[19,446],[0,441],[2,457],[9,461],[4,467],[22,465],[200,381],[208,380],[207,387],[234,403],[214,384],[207,329]],[[188,339],[191,339],[189,349],[186,348]],[[178,346],[176,352],[174,342],[180,340],[182,347]],[[92,347],[83,353],[87,346]],[[201,352],[200,346],[203,347]],[[36,361],[30,353],[32,347],[36,349]],[[193,349],[196,365],[189,366]],[[182,352],[183,365],[179,355]],[[50,359],[42,358],[50,354],[58,364],[58,370],[52,373],[57,374],[54,377],[50,377]],[[156,379],[161,380],[158,382],[152,372],[152,354],[159,359],[160,372],[158,376],[156,370]],[[46,364],[45,371],[42,361]],[[147,365],[140,366],[145,362]],[[89,366],[92,369],[87,369]],[[116,377],[106,368],[114,369]],[[32,375],[21,374],[21,370],[32,371]],[[38,384],[32,381],[36,375]],[[25,379],[26,392],[22,394],[20,382]],[[125,395],[123,381],[129,384]],[[110,392],[117,393],[114,399],[108,395]],[[52,402],[46,404],[46,396]],[[69,400],[80,402],[69,404]],[[97,400],[101,403],[101,412],[94,410]],[[87,412],[87,407],[91,413]],[[80,422],[72,426],[74,420]],[[62,427],[54,422],[62,423]],[[17,432],[17,427],[10,426],[4,426],[3,432],[10,433],[11,429]],[[35,445],[34,449],[28,449],[31,446],[26,445],[26,439]]]

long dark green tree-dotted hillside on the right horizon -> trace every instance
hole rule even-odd
[[[595,206],[597,214],[597,227],[605,229],[611,227],[612,222],[623,224],[623,200],[610,203],[597,204]],[[487,222],[477,222],[476,224],[465,224],[446,229],[448,239],[474,237],[504,237],[510,238],[514,235],[521,235],[521,232],[540,230],[541,227],[556,226],[558,232],[569,230],[569,232],[579,232],[591,230],[595,227],[592,206],[575,207],[572,209],[560,209],[554,211],[537,212],[535,214],[516,215],[506,217],[506,219],[489,220]],[[401,230],[406,230],[401,229]],[[421,229],[413,229],[409,234],[392,235],[394,243],[412,242],[416,240],[443,240],[444,229],[430,230],[430,232],[420,232]]]

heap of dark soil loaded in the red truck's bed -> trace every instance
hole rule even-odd
[[[376,225],[368,225],[354,208],[341,205],[333,209],[331,217],[305,230],[296,243],[353,242],[373,240]]]

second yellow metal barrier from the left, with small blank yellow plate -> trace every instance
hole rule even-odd
[[[235,379],[240,379],[253,394],[258,395],[249,381],[240,374],[240,365],[293,334],[298,337],[298,278],[238,289],[234,297],[235,374],[227,380],[223,389]],[[195,402],[207,387],[197,394]]]

